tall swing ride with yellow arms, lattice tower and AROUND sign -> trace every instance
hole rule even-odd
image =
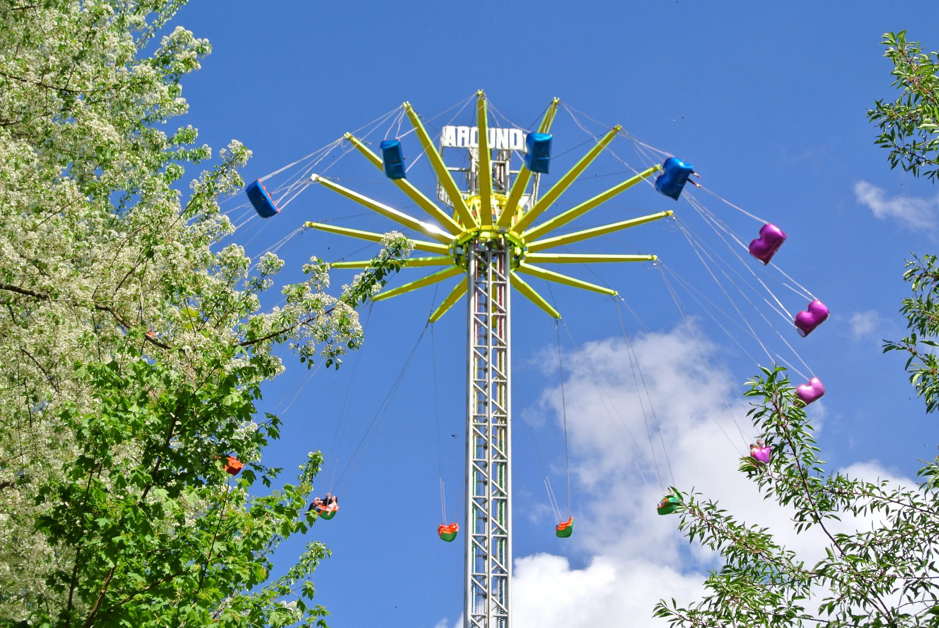
[[[440,539],[447,542],[454,541],[461,528],[464,532],[464,625],[468,628],[510,628],[512,625],[513,540],[512,345],[510,340],[512,288],[556,321],[561,319],[561,313],[529,283],[532,278],[550,283],[561,283],[613,299],[621,299],[615,290],[607,286],[585,282],[546,267],[620,262],[647,262],[660,265],[661,262],[654,254],[558,253],[558,249],[566,249],[569,244],[673,218],[674,212],[669,209],[620,222],[557,233],[562,226],[608,203],[609,200],[640,183],[652,184],[655,191],[676,201],[683,196],[684,192],[691,206],[728,244],[742,263],[746,264],[745,256],[736,253],[733,245],[743,247],[757,262],[762,263],[763,266],[769,266],[787,236],[775,224],[757,219],[740,207],[732,206],[725,201],[731,207],[763,223],[758,237],[748,245],[745,244],[725,222],[718,219],[711,210],[685,191],[688,183],[700,187],[700,184],[692,178],[698,175],[690,164],[668,153],[656,151],[651,146],[636,142],[634,138],[625,134],[620,126],[608,128],[602,134],[592,135],[589,142],[593,146],[590,146],[585,154],[547,191],[542,192],[540,190],[541,178],[548,175],[551,170],[553,143],[551,129],[559,107],[564,106],[561,101],[552,100],[541,116],[536,130],[531,131],[514,126],[510,128],[491,126],[490,111],[495,110],[487,102],[483,91],[477,92],[473,97],[464,101],[463,106],[466,107],[469,103],[474,104],[475,126],[444,126],[439,132],[439,145],[435,144],[435,139],[428,132],[427,121],[418,115],[410,103],[405,102],[400,108],[379,119],[379,124],[391,120],[389,131],[396,122],[397,131],[391,138],[388,137],[390,132],[386,133],[385,139],[377,146],[377,152],[369,146],[365,135],[359,137],[353,133],[346,133],[332,145],[327,146],[327,149],[317,151],[303,160],[288,164],[285,168],[254,181],[247,186],[246,193],[257,215],[262,218],[271,218],[281,213],[300,191],[318,186],[391,219],[411,232],[421,234],[421,238],[411,238],[411,242],[416,251],[426,254],[408,258],[406,267],[435,268],[435,270],[420,279],[378,293],[373,299],[375,301],[392,299],[426,286],[455,280],[447,296],[430,314],[428,323],[432,324],[466,297],[468,364],[467,451],[463,487],[465,514],[462,527],[456,522],[448,524],[444,520],[438,532]],[[568,108],[568,111],[574,115],[573,111],[576,110]],[[402,133],[401,124],[405,117],[410,122],[411,130]],[[373,126],[373,130],[376,128],[377,126]],[[411,132],[416,135],[423,149],[418,159],[421,157],[425,159],[437,180],[436,199],[420,191],[408,180],[409,166],[405,163],[404,146],[401,140]],[[633,139],[637,146],[640,145],[639,150],[650,149],[667,159],[661,163],[649,163],[641,171],[630,167],[633,172],[632,176],[628,176],[622,182],[592,198],[578,202],[566,211],[539,222],[539,219],[546,215],[547,210],[556,206],[562,194],[583,176],[598,156],[605,151],[612,153],[609,148],[611,142],[623,136]],[[319,173],[313,172],[317,164],[321,163],[332,149],[340,146],[344,154],[350,151],[361,153],[365,160],[371,162],[434,222],[414,218],[359,191],[347,188],[335,178],[325,176],[323,170]],[[444,148],[463,149],[464,157],[469,157],[468,162],[465,160],[462,166],[448,165],[444,161]],[[648,157],[647,153],[646,155]],[[651,161],[651,159],[646,161]],[[415,162],[416,160],[411,161],[410,165]],[[287,169],[298,168],[298,166],[297,176],[279,188],[267,190],[264,183],[266,179],[279,175]],[[247,207],[247,205],[241,207]],[[381,233],[337,226],[331,222],[305,222],[288,237],[292,237],[302,229],[316,229],[368,242],[380,242],[384,237]],[[685,228],[680,227],[680,229],[700,261],[708,268],[711,277],[720,284],[712,269],[716,264],[713,252],[702,246],[700,241]],[[423,239],[424,237],[427,239]],[[708,265],[705,257],[712,262],[711,265]],[[340,261],[331,264],[331,268],[368,268],[369,265],[368,260]],[[765,302],[778,314],[784,317],[790,316],[788,310],[785,309],[780,299],[773,295],[766,283],[752,268],[747,267],[747,269],[775,301],[764,299]],[[782,271],[779,270],[779,272]],[[785,284],[787,287],[797,294],[810,298],[805,311],[789,317],[793,328],[800,335],[807,336],[824,322],[828,317],[828,310],[822,301],[815,299],[808,290],[795,283],[785,273],[782,274],[789,280],[789,283]],[[724,276],[731,280],[726,272]],[[663,271],[663,278],[665,277]],[[675,280],[681,282],[678,276],[675,276]],[[683,287],[685,290],[690,288],[698,292],[702,299],[707,300],[695,290],[693,285],[683,285]],[[670,289],[672,289],[671,286]],[[674,296],[674,293],[672,294]],[[701,303],[693,292],[689,291],[689,294]],[[731,299],[726,291],[725,294],[728,299]],[[733,302],[731,299],[731,303]],[[625,303],[624,300],[623,303]],[[733,308],[740,314],[736,305],[733,305]],[[749,323],[746,323],[746,327],[766,350],[770,359],[775,361],[765,345],[756,337]],[[623,331],[625,332],[625,329]],[[792,349],[781,334],[780,338]],[[560,360],[560,331],[558,342]],[[794,349],[793,353],[795,353]],[[798,354],[795,355],[798,356]],[[781,357],[779,358],[781,360]],[[807,379],[808,381],[799,385],[796,390],[797,396],[804,404],[810,404],[824,394],[824,386],[818,377],[811,376]],[[651,399],[649,401],[651,403]],[[742,433],[741,436],[743,436]],[[762,441],[758,441],[758,444],[750,446],[750,454],[758,464],[765,464],[769,460],[770,451]],[[238,470],[229,472],[237,473]],[[553,510],[558,518],[562,519],[549,483],[547,491]],[[659,514],[673,513],[680,504],[680,499],[680,494],[674,489],[669,489],[658,503],[657,512]],[[317,499],[314,506],[318,515],[325,519],[331,519],[338,511],[338,502],[331,496],[326,499]],[[570,537],[574,531],[574,517],[569,508],[567,514],[567,520],[561,520],[555,530],[556,535],[561,538]]]

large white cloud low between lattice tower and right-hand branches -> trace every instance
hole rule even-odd
[[[513,604],[519,628],[612,628],[626,622],[662,628],[665,622],[652,618],[659,599],[688,604],[700,597],[705,573],[716,566],[717,557],[697,544],[689,550],[676,518],[655,513],[660,489],[653,449],[666,485],[670,466],[681,489],[694,487],[739,519],[767,526],[777,542],[809,563],[824,556],[821,530],[796,535],[792,511],[763,499],[737,471],[738,458],[758,436],[746,419],[739,383],[729,383],[704,360],[685,329],[640,335],[634,344],[645,386],[639,373],[634,381],[630,352],[621,340],[588,343],[566,355],[572,473],[581,489],[575,494],[577,528],[570,543],[575,553],[589,558],[582,569],[550,554],[517,558]],[[654,416],[648,400],[643,401],[649,433],[637,383],[640,391],[648,388],[653,401]],[[559,390],[548,389],[543,405],[561,421]],[[846,471],[912,485],[876,461]],[[834,531],[857,524],[846,517]]]

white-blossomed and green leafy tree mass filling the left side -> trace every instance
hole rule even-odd
[[[262,464],[280,420],[256,418],[288,345],[338,368],[362,343],[355,308],[404,264],[381,253],[332,297],[329,265],[261,295],[283,262],[236,245],[217,199],[250,151],[212,159],[181,79],[208,41],[176,27],[182,0],[0,0],[0,623],[322,624],[310,542],[269,579],[271,554],[316,520],[318,452],[296,481]],[[145,51],[152,51],[146,53]],[[228,456],[245,464],[235,478]],[[264,485],[264,494],[255,482]],[[322,624],[325,625],[325,624]]]

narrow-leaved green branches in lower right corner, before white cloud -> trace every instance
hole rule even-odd
[[[747,396],[774,456],[768,465],[743,458],[741,469],[766,498],[793,508],[797,533],[821,531],[826,556],[808,565],[777,544],[767,528],[746,526],[719,505],[685,496],[680,529],[689,541],[720,553],[698,603],[660,602],[657,617],[674,626],[932,625],[939,585],[939,465],[922,467],[917,488],[891,488],[826,469],[805,408],[784,369],[763,369]],[[841,516],[868,517],[870,528],[832,529]]]

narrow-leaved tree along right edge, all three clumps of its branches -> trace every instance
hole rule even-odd
[[[893,103],[877,100],[870,120],[882,130],[879,146],[916,176],[935,179],[939,152],[939,69],[935,53],[923,54],[905,32],[884,36],[894,63],[894,84],[903,95]],[[939,403],[939,363],[932,355],[939,334],[939,268],[929,255],[907,263],[904,279],[912,296],[901,314],[908,335],[887,342],[885,352],[907,355],[906,371],[926,411]],[[891,488],[831,471],[805,406],[782,368],[762,369],[745,393],[756,401],[749,416],[774,452],[767,465],[741,460],[741,470],[766,498],[793,509],[799,534],[821,531],[825,557],[807,564],[777,543],[767,528],[746,526],[700,495],[685,495],[679,526],[691,542],[719,552],[724,564],[705,581],[707,595],[681,606],[674,600],[655,607],[673,626],[920,626],[939,616],[939,458],[919,469],[916,487]],[[865,529],[838,532],[841,516],[865,518]]]

